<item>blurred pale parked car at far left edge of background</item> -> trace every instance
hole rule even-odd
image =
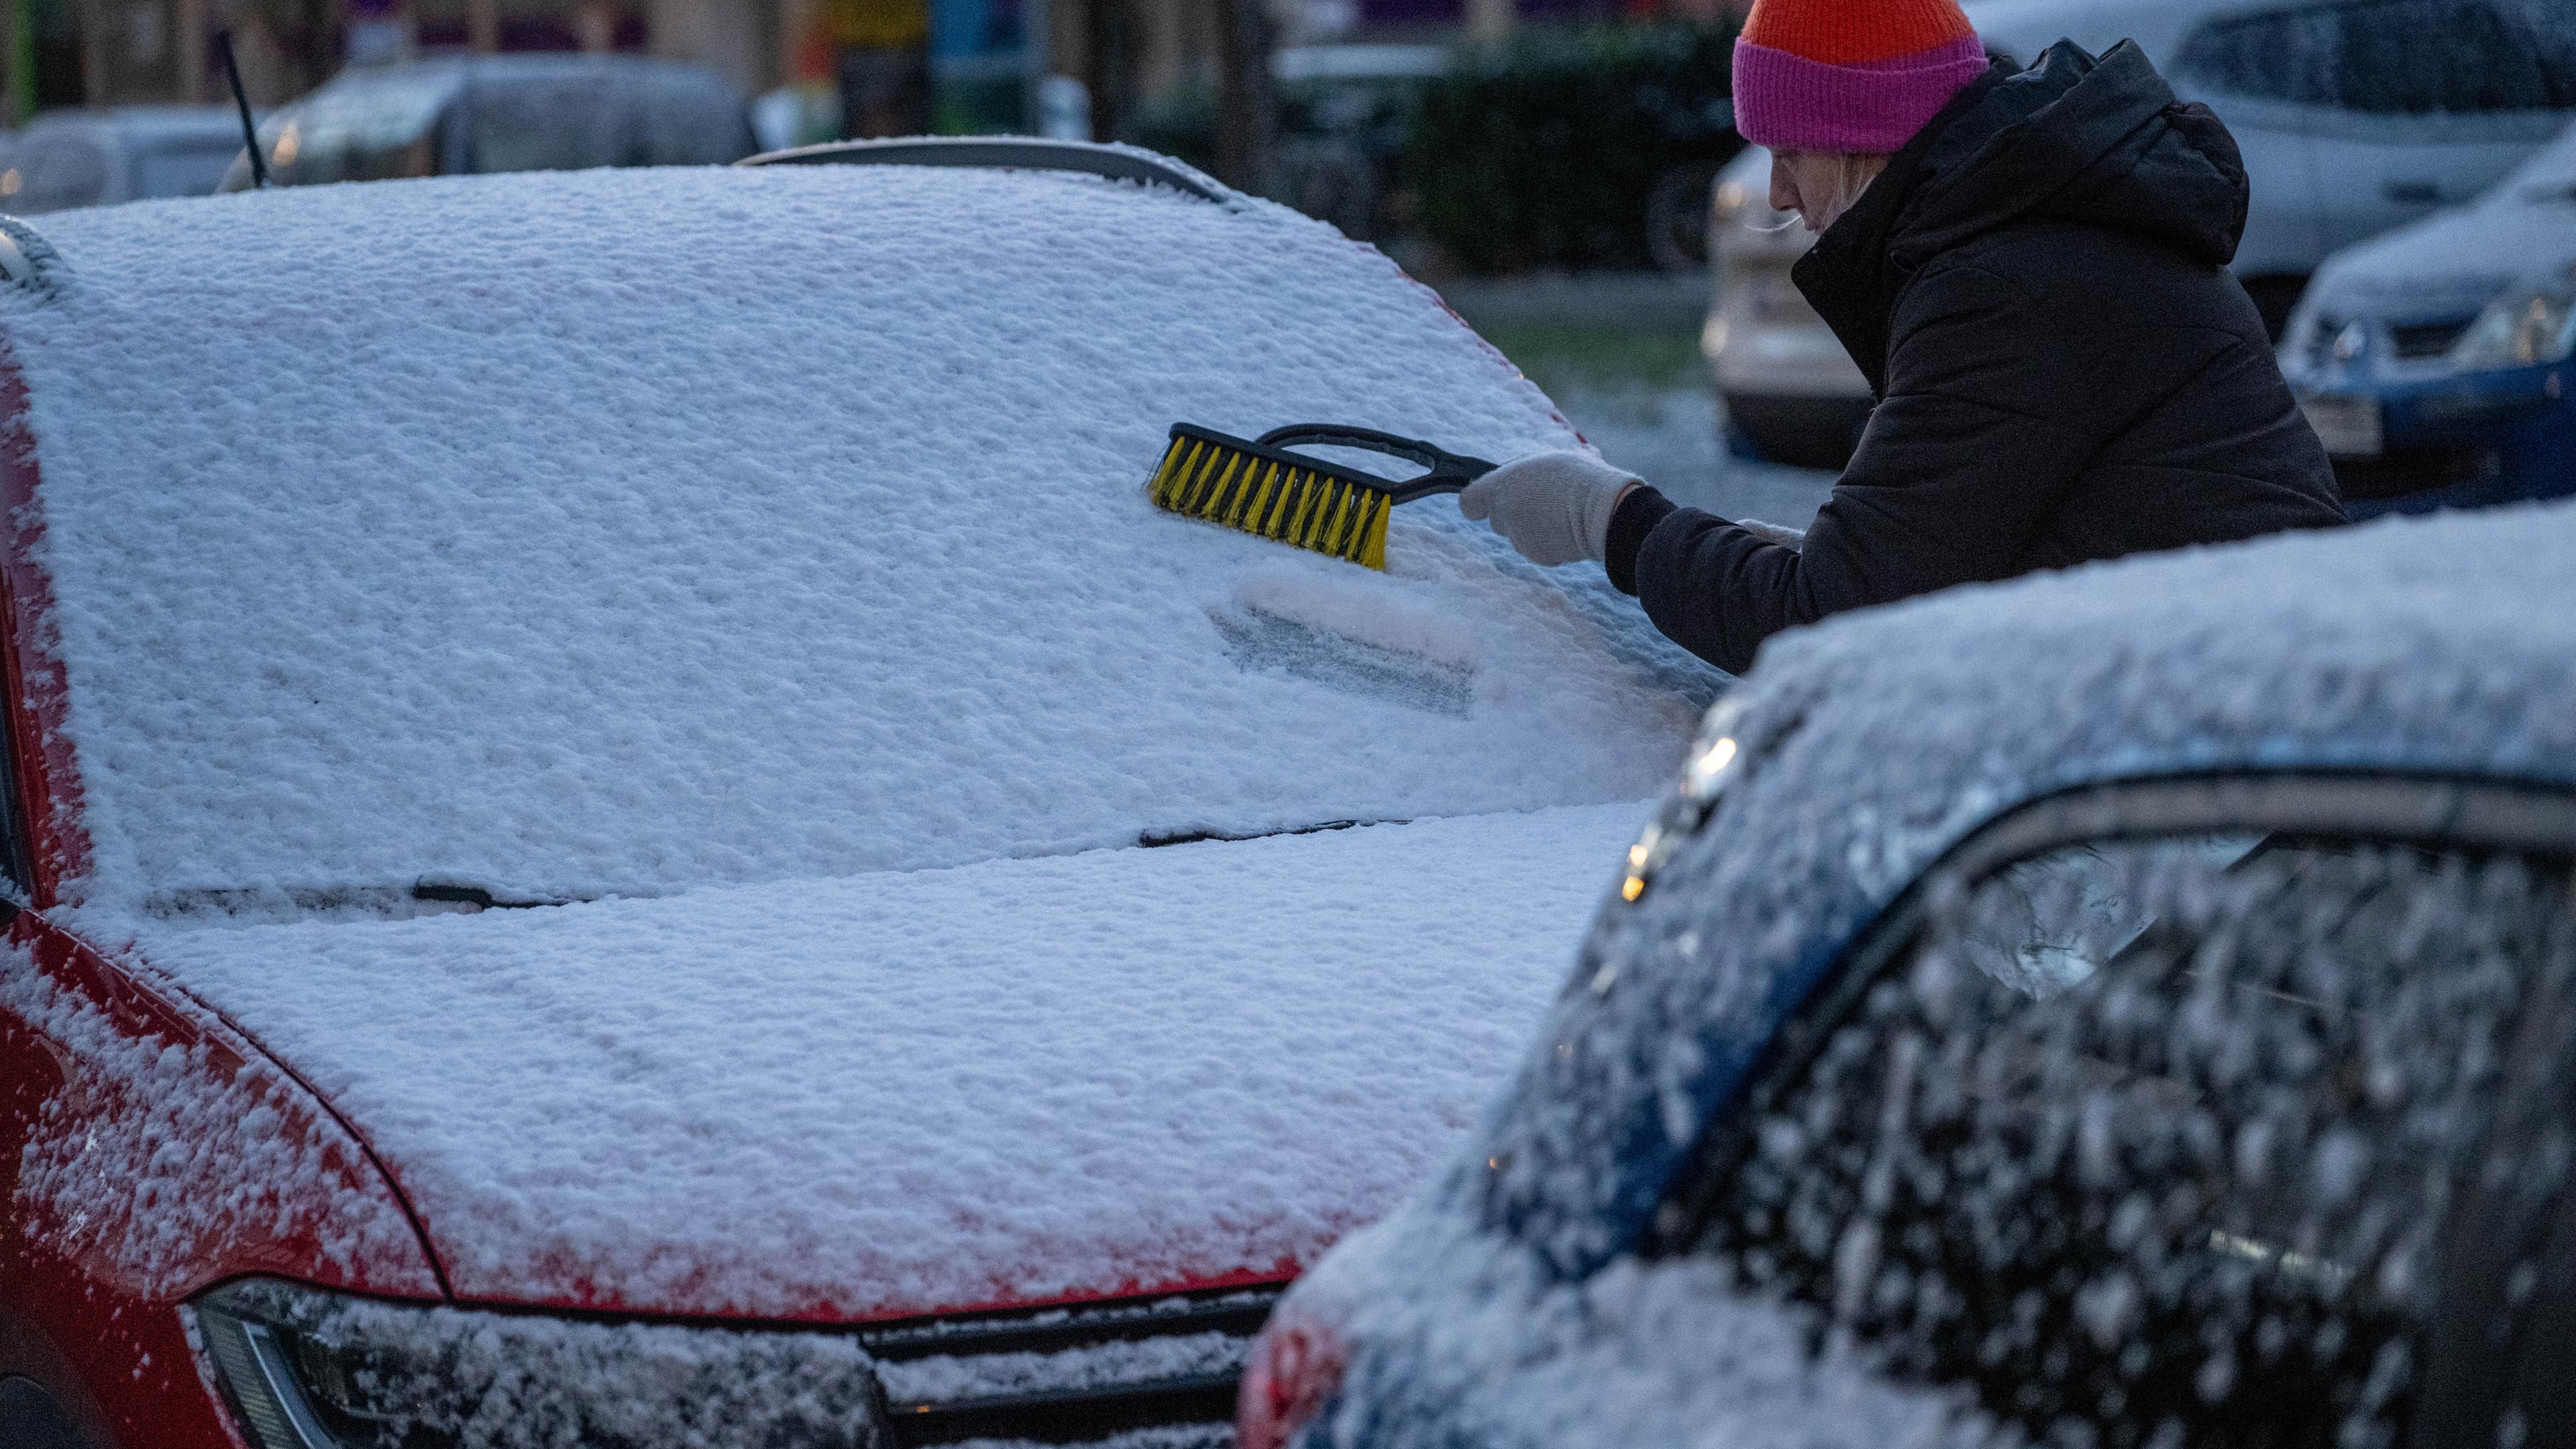
[[[206,196],[237,155],[242,119],[229,106],[46,111],[0,139],[0,211]]]

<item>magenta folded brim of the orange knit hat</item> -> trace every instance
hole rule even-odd
[[[1775,152],[1891,155],[1978,75],[1986,46],[1976,36],[1868,64],[1736,41],[1736,129]]]

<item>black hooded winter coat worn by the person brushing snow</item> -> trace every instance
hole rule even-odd
[[[1610,521],[1610,580],[1723,670],[1842,608],[2344,521],[2226,271],[2236,139],[2133,44],[1963,90],[1793,273],[1878,407],[1803,552],[1674,508]]]

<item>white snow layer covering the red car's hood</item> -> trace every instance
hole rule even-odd
[[[1383,1214],[1633,825],[157,920],[131,951],[340,1109],[469,1299],[902,1315],[1275,1271]]]

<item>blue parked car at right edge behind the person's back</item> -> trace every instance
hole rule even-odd
[[[2290,320],[2357,513],[2576,492],[2576,126],[2476,206],[2342,250]]]

